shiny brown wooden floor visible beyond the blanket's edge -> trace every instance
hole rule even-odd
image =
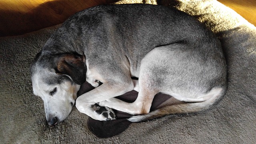
[[[54,26],[70,15],[117,0],[0,0],[0,36],[15,36]],[[256,26],[256,0],[218,0]]]

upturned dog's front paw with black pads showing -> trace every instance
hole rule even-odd
[[[111,108],[99,106],[98,104],[92,105],[92,109],[100,115],[100,117],[103,117],[105,120],[115,120],[116,114]]]

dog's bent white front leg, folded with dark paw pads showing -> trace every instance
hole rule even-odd
[[[131,91],[134,84],[131,80],[129,84],[116,86],[113,83],[105,82],[101,86],[82,94],[76,99],[76,108],[79,112],[84,113],[95,120],[113,120],[114,112],[109,108],[102,108],[96,103],[108,100],[109,98],[120,96]]]

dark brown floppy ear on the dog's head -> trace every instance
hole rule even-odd
[[[86,65],[84,56],[80,54],[61,54],[57,62],[56,73],[70,76],[76,84],[86,81]]]

